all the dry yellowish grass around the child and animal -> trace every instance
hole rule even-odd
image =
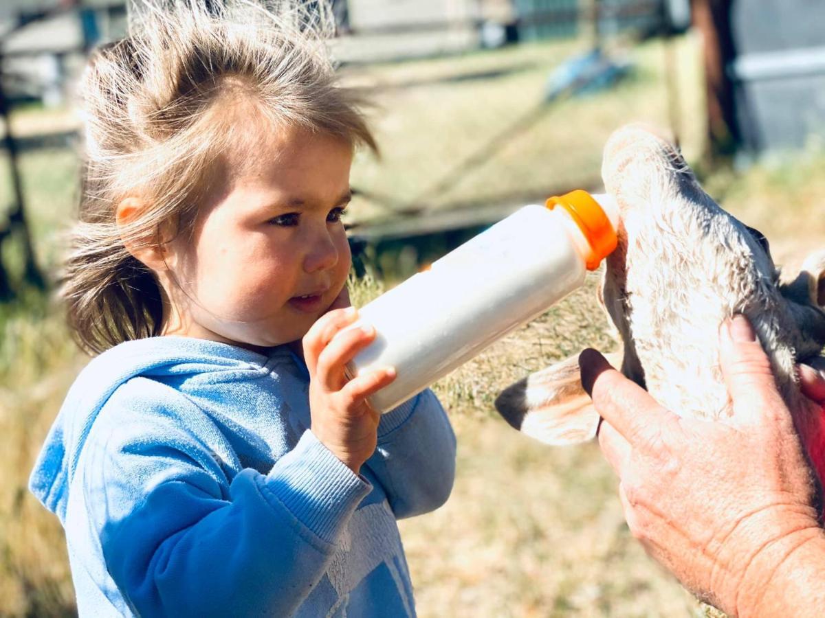
[[[639,50],[640,72],[619,91],[565,104],[522,136],[526,141],[513,143],[453,193],[441,196],[441,203],[471,199],[485,190],[523,189],[525,183],[540,187],[575,180],[597,171],[601,143],[618,124],[640,117],[662,124],[666,101],[658,82],[662,56],[657,45]],[[694,53],[690,40],[681,45],[686,56]],[[535,101],[546,69],[568,51],[531,45],[449,62],[370,69],[363,82],[396,87],[384,90],[381,100],[384,163],[360,159],[353,183],[394,195],[416,193],[439,176],[445,162],[471,152],[486,131]],[[428,82],[511,65],[526,68],[503,77]],[[686,79],[691,75],[684,72]],[[398,87],[408,82],[421,83]],[[825,177],[817,178],[823,163],[822,154],[792,157],[784,166],[758,167],[744,176],[717,172],[707,186],[724,194],[740,218],[761,227],[782,261],[794,264],[825,238],[825,218],[818,214]],[[27,154],[24,166],[27,189],[34,195],[31,215],[39,255],[54,264],[54,232],[68,220],[77,164],[65,152],[39,152]],[[0,197],[7,190],[0,180]],[[365,218],[370,215],[367,204],[354,207]],[[629,537],[615,479],[593,445],[542,447],[493,412],[502,386],[584,346],[611,345],[593,284],[590,279],[587,288],[436,384],[459,436],[459,468],[445,507],[401,522],[422,616],[700,613]],[[356,283],[356,305],[380,287]],[[59,315],[44,302],[30,299],[0,311],[0,616],[69,616],[73,590],[62,531],[25,488],[40,443],[84,359]]]

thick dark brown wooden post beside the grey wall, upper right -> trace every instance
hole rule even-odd
[[[692,0],[693,23],[702,35],[708,109],[709,157],[729,156],[741,143],[728,63],[736,57],[730,0]]]

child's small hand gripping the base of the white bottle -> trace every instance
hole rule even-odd
[[[376,369],[347,381],[345,365],[375,339],[372,326],[335,336],[351,325],[356,316],[353,307],[329,311],[304,335],[303,346],[309,369],[312,433],[358,474],[361,465],[375,451],[381,418],[365,399],[392,382],[395,370]]]

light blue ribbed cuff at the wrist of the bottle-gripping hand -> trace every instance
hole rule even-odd
[[[356,475],[311,431],[278,460],[268,478],[271,492],[295,518],[324,541],[334,543],[372,485]]]

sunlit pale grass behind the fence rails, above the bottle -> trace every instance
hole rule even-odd
[[[676,129],[692,159],[704,136],[699,50],[691,36],[671,44],[679,67],[681,126]],[[454,179],[455,185],[431,194],[455,166],[540,105],[552,69],[586,49],[579,41],[525,44],[360,70],[350,81],[376,93],[372,117],[384,153],[380,162],[366,153],[357,157],[352,184],[392,196],[400,205],[421,198],[427,208],[437,209],[456,200],[489,202],[491,196],[541,194],[597,180],[601,147],[621,124],[670,126],[660,41],[616,49],[616,57],[626,55],[635,66],[618,87],[550,106],[529,129],[514,133],[481,165]],[[385,210],[356,197],[352,214],[362,222],[380,218]]]

